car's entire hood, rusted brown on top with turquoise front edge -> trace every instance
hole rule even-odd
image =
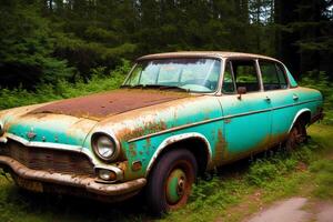
[[[82,147],[101,120],[191,97],[152,90],[117,90],[0,112],[7,137],[28,142]],[[148,108],[149,109],[149,108]]]

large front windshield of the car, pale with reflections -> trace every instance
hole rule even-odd
[[[140,61],[123,87],[160,87],[190,92],[214,92],[221,61],[218,59],[160,59]]]

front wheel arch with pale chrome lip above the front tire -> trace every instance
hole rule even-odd
[[[203,173],[206,170],[208,164],[212,160],[211,145],[203,134],[193,132],[173,135],[165,139],[151,158],[147,167],[145,176],[149,176],[151,170],[158,162],[159,158],[163,155],[163,153],[176,149],[178,147],[188,149],[194,155],[198,163],[199,173]]]

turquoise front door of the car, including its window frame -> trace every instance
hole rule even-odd
[[[240,88],[246,88],[246,93],[239,94]],[[256,60],[225,62],[219,101],[224,120],[224,161],[259,152],[269,145],[271,103],[262,91]]]

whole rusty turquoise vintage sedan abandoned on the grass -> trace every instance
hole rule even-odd
[[[0,112],[0,165],[31,191],[179,209],[196,176],[306,141],[323,97],[269,57],[141,57],[121,89]]]

